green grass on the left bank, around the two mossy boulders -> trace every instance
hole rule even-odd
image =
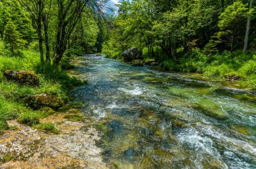
[[[8,120],[18,119],[20,123],[38,125],[41,117],[54,113],[52,109],[42,108],[33,110],[26,103],[24,97],[46,93],[57,95],[59,99],[69,101],[68,91],[76,85],[82,84],[76,78],[69,77],[61,68],[45,65],[40,66],[38,52],[23,51],[20,56],[0,55],[0,132],[9,129]],[[3,76],[4,70],[32,70],[39,76],[40,84],[30,87],[8,81]],[[44,126],[44,125],[40,125]],[[53,130],[53,126],[51,125]],[[54,131],[54,130],[53,130]]]

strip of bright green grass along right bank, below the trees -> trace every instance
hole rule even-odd
[[[206,54],[197,48],[187,54],[177,54],[179,61],[157,52],[150,56],[148,50],[143,50],[144,61],[155,58],[166,70],[175,72],[197,72],[210,78],[223,80],[237,80],[241,87],[256,90],[256,54],[242,54],[241,52],[227,52],[220,54]],[[108,58],[122,59],[121,51],[104,49]],[[235,78],[235,79],[232,79]]]

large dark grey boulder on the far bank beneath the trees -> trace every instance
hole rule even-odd
[[[143,59],[142,52],[138,48],[131,48],[129,50],[125,50],[125,52],[123,52],[121,56],[123,57],[124,62],[131,62],[133,60]]]

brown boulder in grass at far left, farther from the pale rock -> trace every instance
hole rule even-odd
[[[19,82],[20,84],[26,85],[38,85],[39,78],[38,76],[30,71],[30,70],[5,70],[3,76],[7,78],[7,80],[13,80],[14,82]]]

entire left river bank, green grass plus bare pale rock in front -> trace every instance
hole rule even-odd
[[[39,58],[28,51],[24,57],[0,57],[0,168],[105,168],[96,147],[100,133],[69,95],[86,83],[59,68],[40,66]],[[5,72],[18,78],[9,80]],[[27,73],[35,85],[26,84]],[[36,99],[30,104],[29,97]]]

